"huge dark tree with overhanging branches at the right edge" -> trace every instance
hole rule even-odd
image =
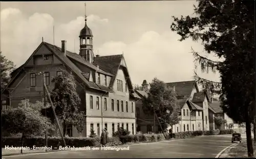
[[[207,54],[220,58],[214,61],[194,51],[196,68],[202,72],[219,71],[221,82],[195,79],[211,93],[221,94],[222,109],[234,122],[246,123],[248,156],[253,156],[250,123],[255,117],[255,43],[253,1],[198,0],[195,17],[174,17],[171,25],[182,40],[201,40]],[[255,1],[254,1],[255,3]],[[221,60],[222,59],[222,60]],[[255,135],[254,135],[255,136]]]

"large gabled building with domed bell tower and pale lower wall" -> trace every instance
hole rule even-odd
[[[136,132],[135,101],[140,98],[134,93],[131,77],[123,55],[94,56],[93,34],[85,18],[80,31],[79,54],[66,50],[66,41],[61,47],[42,41],[29,59],[11,74],[11,81],[4,90],[2,107],[17,107],[21,100],[41,101],[42,75],[51,90],[52,78],[65,70],[74,75],[80,108],[86,123],[81,134],[72,125],[67,133],[71,137],[88,137],[90,130],[100,135],[104,127],[109,135],[120,127]]]

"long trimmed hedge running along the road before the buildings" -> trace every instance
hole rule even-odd
[[[162,133],[160,134],[142,134],[137,133],[134,135],[124,135],[120,137],[111,137],[109,138],[109,146],[118,146],[125,143],[138,143],[138,142],[157,142],[163,140],[169,140],[171,138],[174,139],[186,139],[193,138],[200,135],[217,135],[217,134],[232,134],[234,131],[232,129],[227,130],[209,130],[209,131],[186,131],[186,132],[177,132],[177,133],[167,133],[165,132],[165,137]],[[2,138],[2,147],[13,146],[20,147],[21,146],[21,137],[3,137]],[[84,146],[100,146],[100,138],[65,138],[66,145],[74,146],[74,147],[84,147]],[[45,138],[44,137],[28,137],[24,139],[24,145],[28,147],[42,147],[45,146]],[[59,137],[49,137],[48,138],[48,146],[59,147],[63,146],[62,139]]]

